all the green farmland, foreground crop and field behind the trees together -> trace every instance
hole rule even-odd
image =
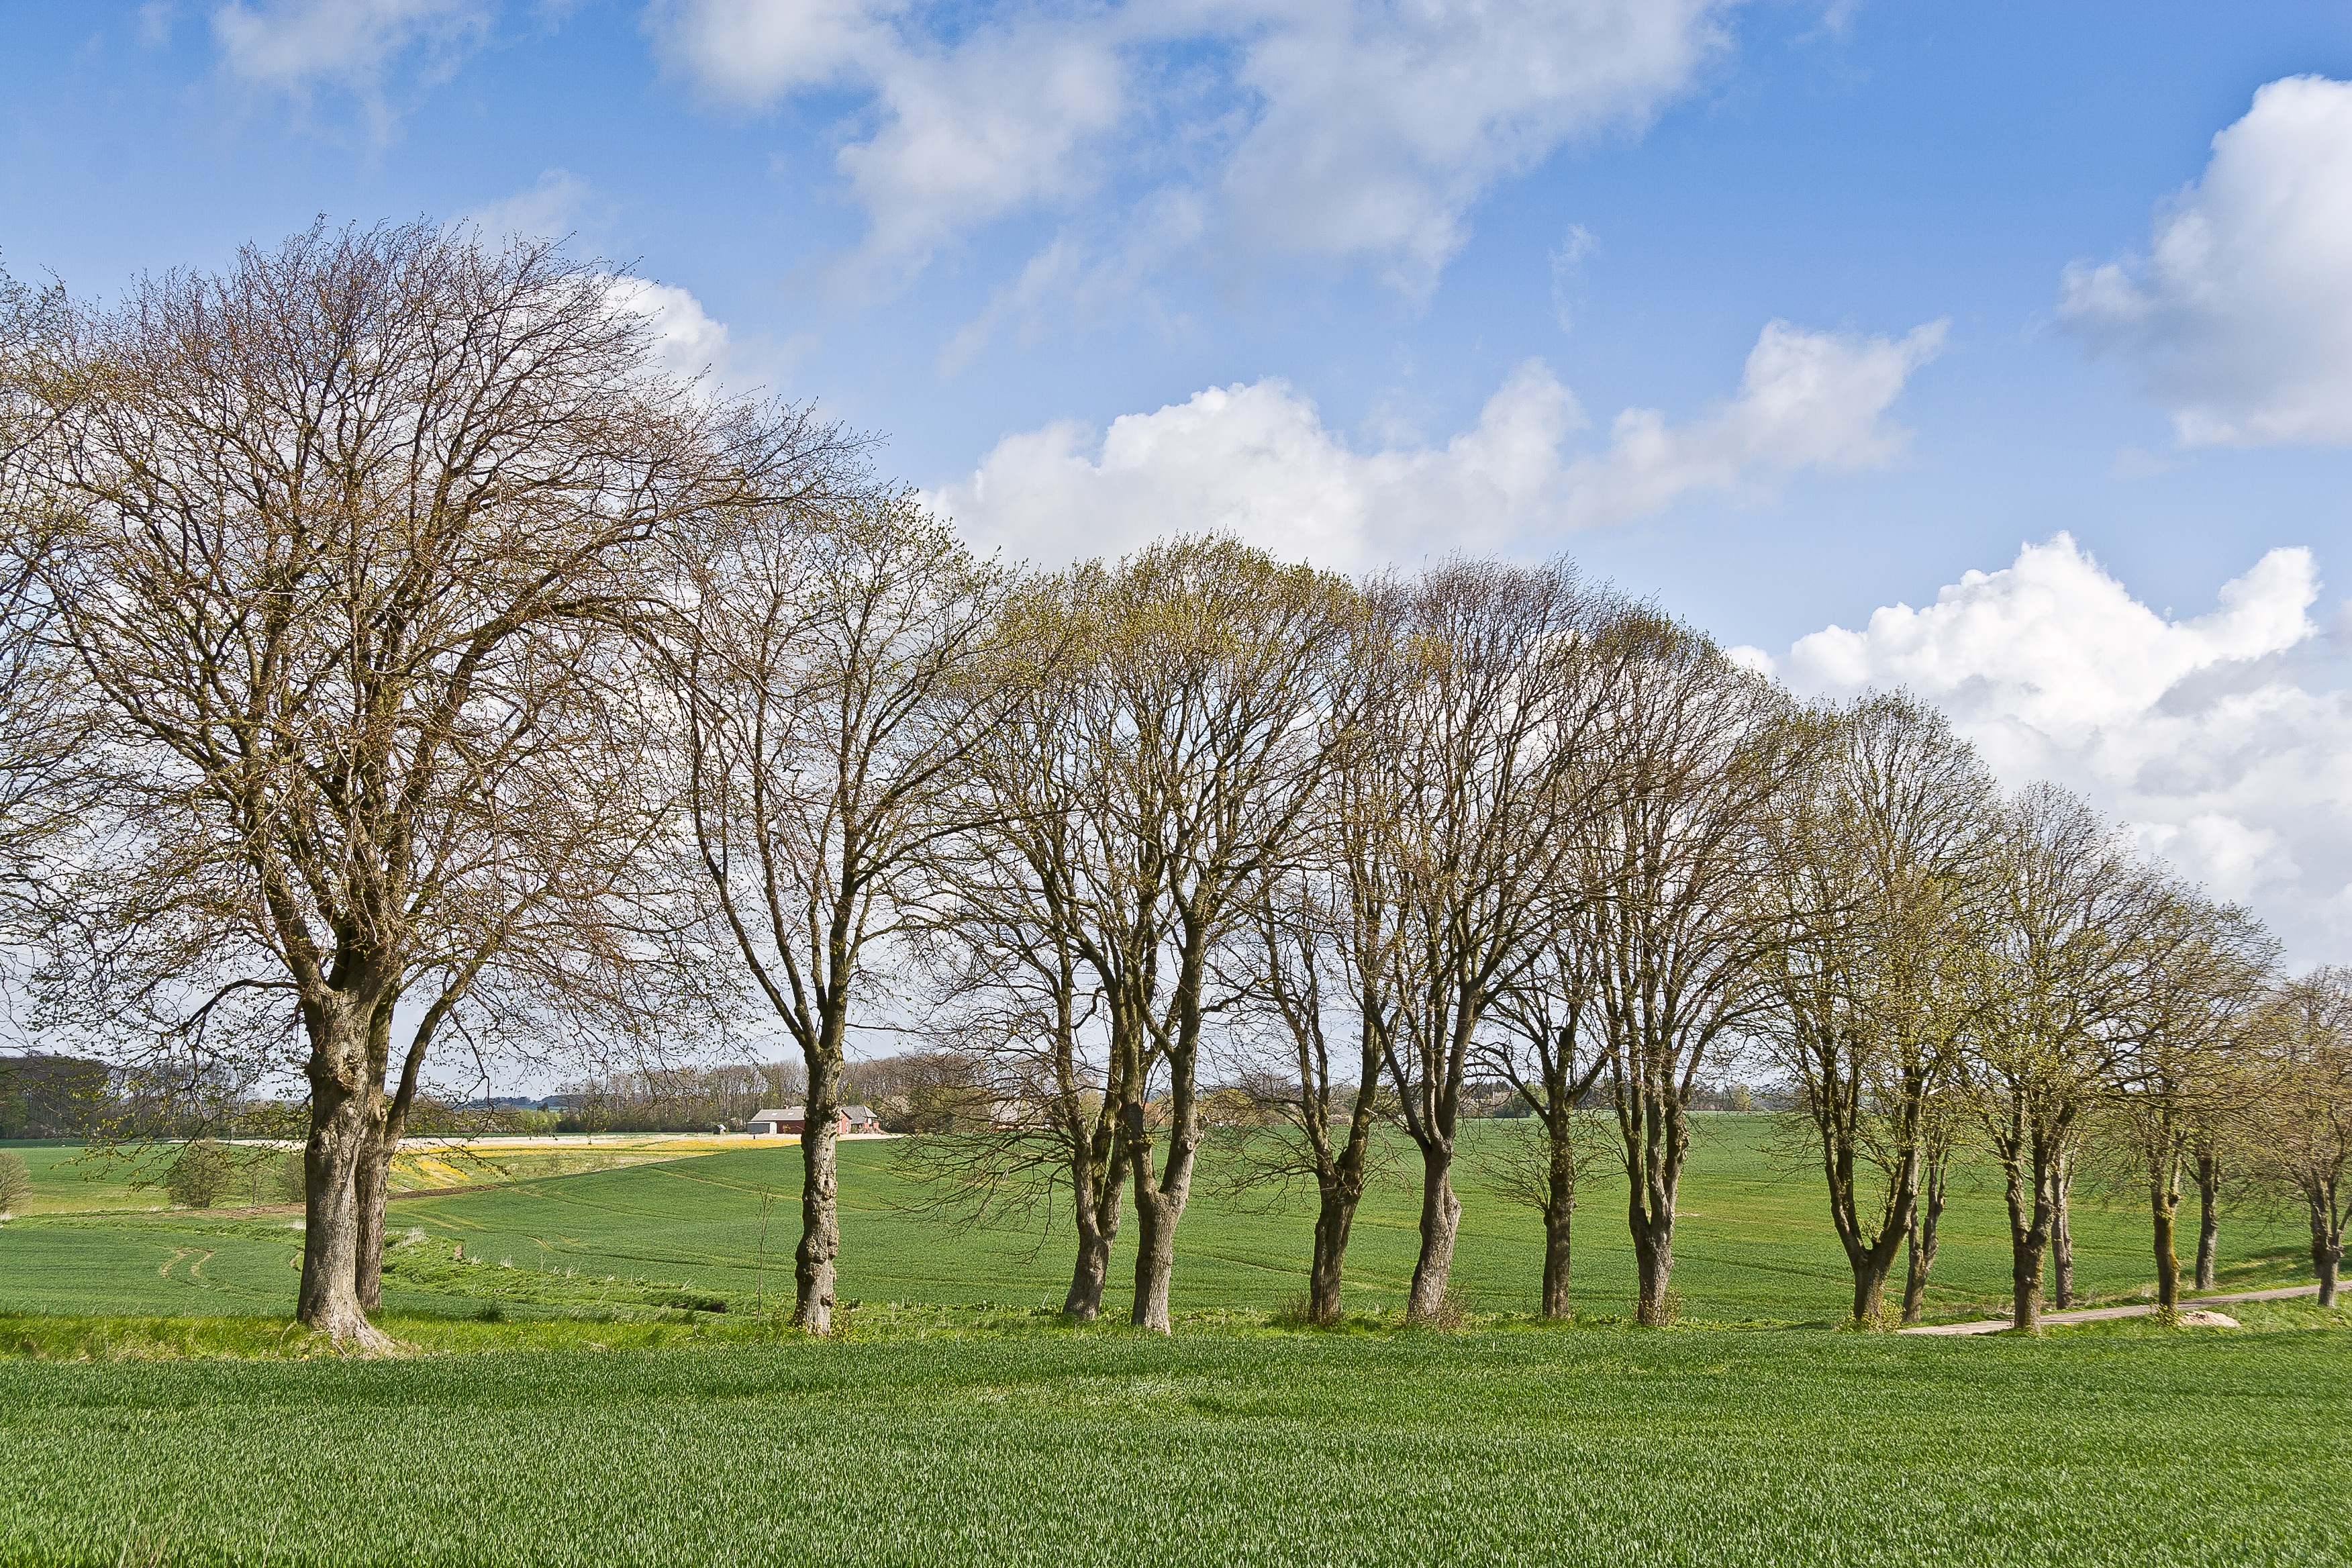
[[[2044,1340],[1856,1335],[1818,1178],[1708,1117],[1684,1324],[1623,1324],[1623,1187],[1578,1211],[1578,1312],[1538,1326],[1534,1215],[1465,1150],[1456,1279],[1406,1331],[1414,1192],[1350,1248],[1345,1331],[1282,1328],[1310,1218],[1185,1215],[1171,1340],[1049,1312],[1068,1232],[908,1211],[898,1147],[842,1150],[844,1333],[790,1300],[790,1145],[393,1204],[386,1328],[289,1333],[299,1220],[35,1213],[0,1225],[5,1563],[2293,1563],[2343,1540],[2352,1314],[2232,1307]],[[71,1150],[54,1152],[54,1187]],[[762,1253],[762,1197],[771,1197]],[[1938,1316],[2006,1286],[1999,1190],[1947,1213]],[[2129,1194],[2074,1218],[2089,1293],[2150,1274]],[[2232,1211],[2225,1286],[2307,1279]],[[463,1248],[463,1260],[456,1258]],[[1124,1267],[1124,1258],[1122,1258]],[[1112,1316],[1124,1309],[1115,1276]],[[771,1309],[762,1319],[760,1305]],[[296,1359],[306,1356],[306,1359]]]

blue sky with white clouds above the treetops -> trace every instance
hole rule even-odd
[[[19,277],[572,233],[981,543],[1569,550],[2352,957],[2340,2],[0,16]]]

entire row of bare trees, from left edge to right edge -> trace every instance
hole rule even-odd
[[[386,226],[108,308],[0,301],[19,980],[151,1077],[299,1067],[306,1324],[376,1338],[428,1063],[753,1027],[807,1072],[811,1333],[830,1110],[889,1032],[1021,1107],[927,1143],[941,1190],[1065,1204],[1075,1316],[1131,1206],[1160,1331],[1211,1051],[1258,1051],[1296,1128],[1317,1316],[1385,1126],[1421,1164],[1409,1312],[1444,1312],[1496,1072],[1550,1135],[1548,1312],[1576,1107],[1613,1114],[1656,1321],[1691,1098],[1757,1044],[1818,1126],[1865,1321],[1905,1244],[1924,1281],[1964,1126],[2009,1171],[2020,1321],[2049,1246],[2065,1295],[2093,1124],[2154,1128],[2166,1222],[2220,1105],[2310,1128],[2288,1107],[2324,1100],[2340,1173],[2340,1074],[2288,1088],[2343,1060],[2340,1009],[2284,1030],[2305,992],[2241,912],[2063,795],[2002,799],[1917,705],[1804,708],[1564,564],[983,562],[811,409],[661,374],[626,299]]]

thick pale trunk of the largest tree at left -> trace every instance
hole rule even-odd
[[[336,1342],[381,1347],[388,1340],[360,1305],[360,1166],[369,1152],[367,1020],[372,1006],[339,994],[306,1006],[310,1032],[310,1140],[303,1145],[301,1293],[294,1316]],[[374,1084],[381,1095],[381,1077]]]

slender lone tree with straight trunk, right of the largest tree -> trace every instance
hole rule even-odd
[[[1007,574],[906,498],[753,508],[687,562],[673,677],[713,919],[809,1074],[795,1321],[833,1331],[844,1048],[1018,682]]]

